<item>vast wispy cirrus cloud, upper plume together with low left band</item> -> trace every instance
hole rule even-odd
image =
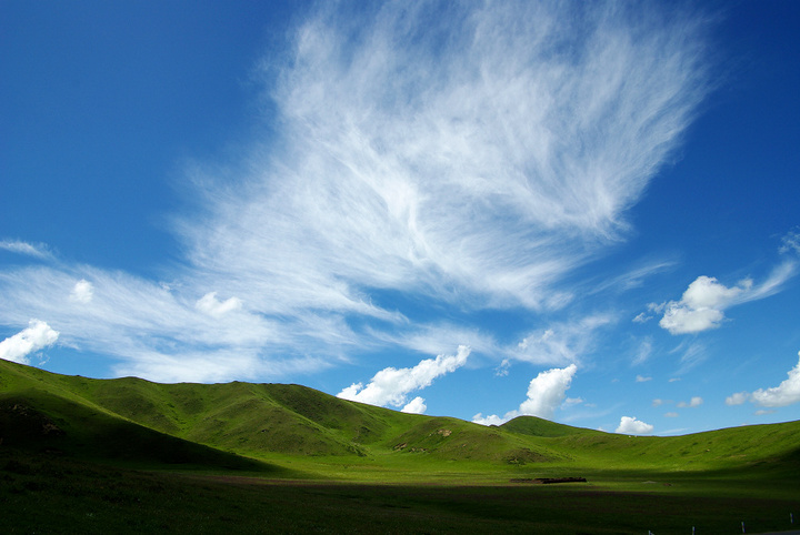
[[[442,322],[391,294],[463,314],[563,309],[568,275],[624,234],[708,92],[703,24],[616,2],[321,4],[263,62],[270,137],[188,171],[199,208],[174,221],[170,287],[10,271],[0,321],[36,313],[120,373],[216,381],[440,349]],[[516,359],[557,365],[583,344],[526,340]]]

